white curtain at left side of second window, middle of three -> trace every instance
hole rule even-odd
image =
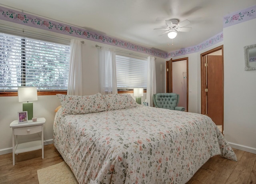
[[[114,49],[98,47],[100,93],[117,94],[116,85],[116,53]]]

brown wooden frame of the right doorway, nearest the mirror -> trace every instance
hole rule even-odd
[[[210,53],[213,53],[213,52],[216,52],[216,51],[219,51],[219,50],[222,50],[222,67],[223,67],[223,91],[222,91],[222,98],[223,98],[223,104],[222,104],[222,111],[224,111],[224,50],[223,50],[223,45],[222,46],[218,46],[214,49],[211,49],[211,50],[208,50],[204,53],[201,53],[201,114],[204,114],[206,115],[206,92],[205,92],[205,89],[206,89],[206,67],[204,65],[205,63],[205,58],[206,58],[206,55],[210,54]],[[223,117],[222,117],[222,132],[223,132],[223,126],[224,124],[224,114],[223,114]]]

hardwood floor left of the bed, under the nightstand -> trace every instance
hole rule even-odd
[[[0,184],[38,184],[37,170],[62,162],[63,159],[53,144],[42,150],[15,155],[12,165],[12,153],[0,155]]]

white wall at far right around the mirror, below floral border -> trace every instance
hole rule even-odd
[[[232,147],[256,153],[256,70],[244,70],[244,46],[256,44],[256,18],[223,30],[224,135]]]

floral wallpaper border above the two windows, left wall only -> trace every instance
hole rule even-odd
[[[67,24],[62,24],[45,18],[40,18],[38,16],[30,15],[27,13],[22,13],[16,10],[11,10],[10,8],[5,8],[0,6],[0,19],[9,22],[14,22],[26,26],[31,26],[34,28],[39,28],[43,30],[48,30],[52,32],[57,32],[69,36],[74,36],[77,38],[83,38],[86,40],[92,40],[95,42],[100,42],[103,44],[108,44],[112,46],[122,47],[125,49],[130,49],[133,51],[143,52],[149,55],[154,55],[158,57],[166,57],[165,51],[160,51],[156,49],[151,49],[144,46],[138,46],[136,44],[112,38],[110,36],[98,34],[95,32],[90,32],[82,28],[77,28],[75,26],[70,26]]]

